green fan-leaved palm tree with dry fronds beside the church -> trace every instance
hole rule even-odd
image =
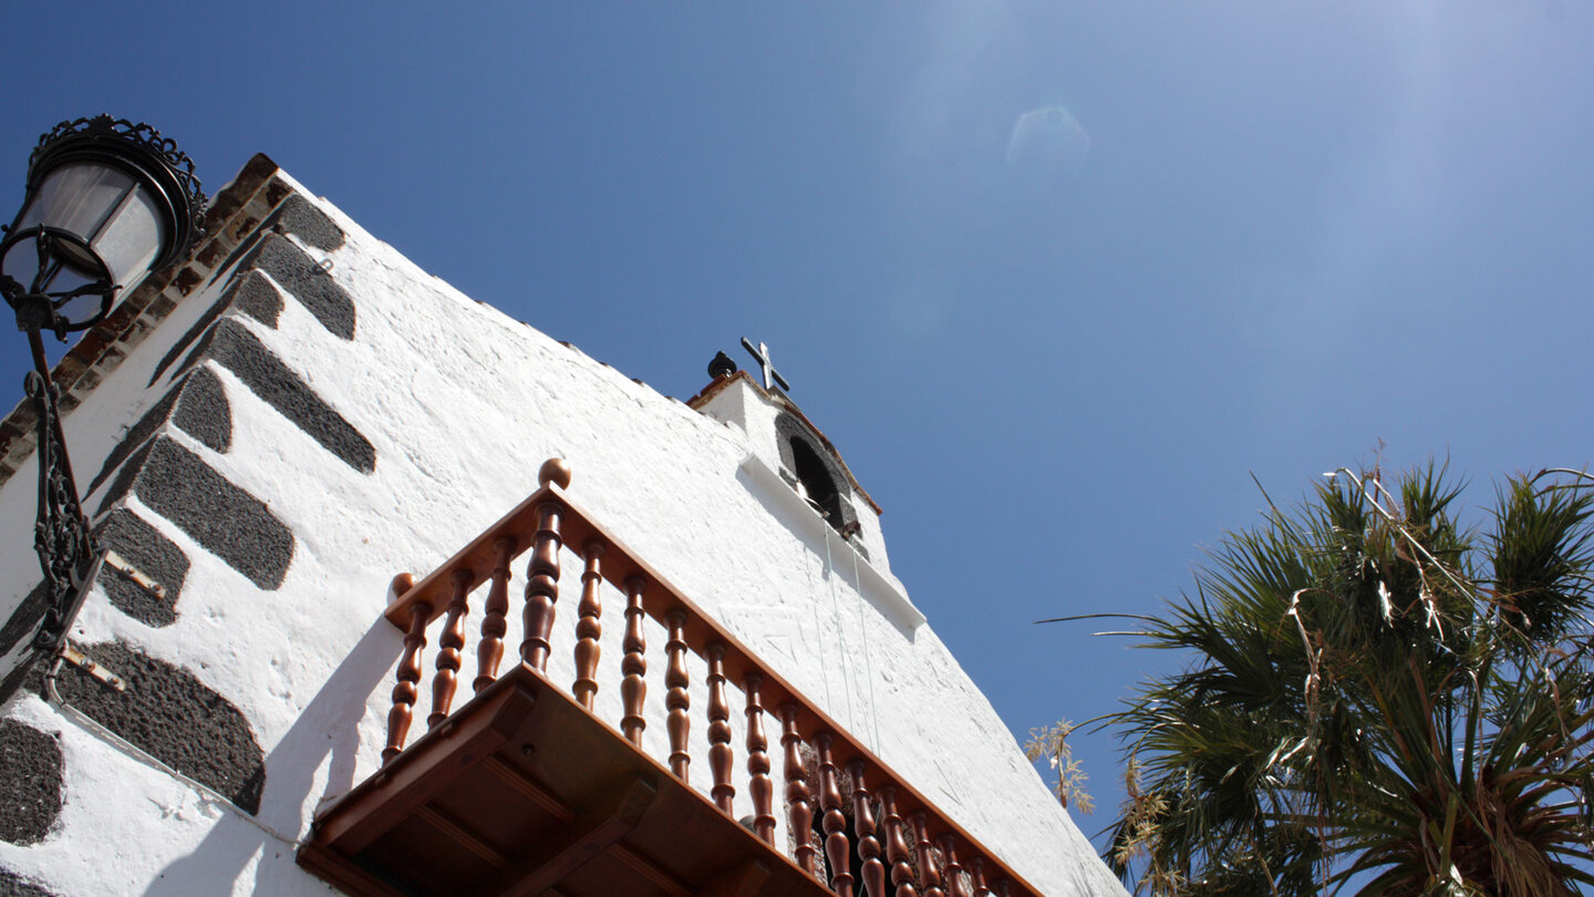
[[[1428,464],[1326,474],[1137,618],[1189,656],[1114,713],[1105,859],[1157,895],[1594,886],[1594,480],[1508,480],[1478,530]]]

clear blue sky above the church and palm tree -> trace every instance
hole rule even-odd
[[[1291,498],[1385,445],[1387,466],[1447,456],[1484,504],[1502,472],[1594,455],[1581,3],[61,2],[3,21],[8,209],[38,132],[110,112],[175,137],[212,188],[265,152],[666,394],[767,342],[1017,733],[1109,712],[1168,662],[1031,621],[1154,611],[1256,520],[1253,474]],[[1078,753],[1093,833],[1121,763],[1105,734]]]

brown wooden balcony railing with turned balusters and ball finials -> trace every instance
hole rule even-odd
[[[569,547],[585,562],[580,607],[577,608],[575,602],[566,603],[567,608],[577,611],[567,611],[577,621],[577,682],[572,685],[572,693],[588,710],[591,709],[591,693],[596,690],[593,682],[598,661],[596,638],[601,632],[596,622],[599,613],[596,581],[601,578],[628,597],[626,658],[622,666],[626,680],[622,683],[626,718],[620,726],[625,737],[641,745],[641,728],[646,725],[639,712],[646,694],[646,680],[642,678],[646,661],[641,656],[641,629],[634,626],[641,613],[646,613],[669,634],[666,688],[660,693],[668,707],[671,769],[685,779],[690,761],[685,755],[690,707],[682,667],[684,651],[690,650],[708,662],[713,680],[706,717],[711,733],[711,757],[705,758],[703,766],[708,766],[714,776],[714,801],[725,809],[732,800],[732,787],[727,782],[732,766],[730,713],[724,697],[724,682],[732,682],[741,686],[748,696],[746,763],[749,777],[746,782],[757,809],[754,830],[771,848],[775,822],[768,804],[771,795],[779,788],[775,788],[768,780],[771,765],[765,753],[764,734],[768,726],[764,726],[764,720],[760,720],[765,713],[771,715],[768,721],[781,736],[781,744],[786,749],[786,788],[781,792],[792,804],[787,824],[800,828],[800,832],[794,832],[799,865],[818,873],[815,867],[821,865],[821,857],[826,854],[832,857],[832,863],[846,862],[848,849],[859,848],[866,865],[862,870],[854,870],[861,875],[856,886],[853,881],[858,875],[846,871],[840,871],[834,879],[821,876],[838,894],[850,897],[853,892],[862,894],[869,889],[869,897],[886,897],[874,894],[872,889],[885,891],[888,887],[883,884],[888,871],[894,886],[893,894],[913,892],[910,891],[913,871],[905,862],[902,849],[909,838],[904,836],[910,836],[915,844],[917,892],[921,895],[944,894],[944,887],[950,889],[952,894],[974,897],[1004,891],[1012,897],[1039,894],[956,820],[936,808],[904,776],[875,757],[786,678],[759,661],[746,645],[720,627],[681,589],[575,504],[564,492],[571,484],[571,469],[563,460],[552,458],[544,463],[537,479],[540,482],[537,492],[419,583],[410,586],[408,575],[394,579],[394,591],[398,595],[389,605],[386,618],[405,634],[405,658],[398,666],[398,682],[394,688],[389,739],[383,752],[384,763],[402,752],[405,731],[410,728],[411,707],[422,691],[419,688],[422,667],[419,654],[426,645],[424,627],[446,614],[440,638],[445,656],[438,658],[437,670],[438,678],[446,682],[434,685],[432,691],[437,701],[427,720],[429,726],[437,726],[446,718],[454,675],[459,672],[464,645],[457,624],[461,616],[467,613],[465,595],[489,579],[493,589],[488,595],[483,640],[478,645],[481,672],[475,678],[473,688],[481,691],[493,682],[502,654],[502,645],[497,642],[505,634],[504,614],[508,610],[502,607],[507,599],[507,568],[513,563],[513,557],[526,552],[532,557],[524,584],[526,640],[521,645],[521,659],[534,669],[545,670],[559,584],[558,552],[559,547]],[[816,745],[815,750],[821,757],[819,782],[810,780],[807,776],[799,744]],[[883,848],[877,835],[877,822],[870,819],[867,811],[867,801],[858,804],[862,809],[854,809],[851,836],[842,830],[837,784],[843,769],[854,788],[861,790],[867,780],[869,792],[880,796],[881,822],[878,825],[885,830]],[[823,819],[826,843],[819,843],[819,838],[811,832],[815,819]],[[885,862],[880,859],[881,852]]]

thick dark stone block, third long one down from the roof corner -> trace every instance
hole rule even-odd
[[[282,586],[293,560],[293,531],[193,452],[156,436],[123,464],[100,514],[129,490],[261,589]]]

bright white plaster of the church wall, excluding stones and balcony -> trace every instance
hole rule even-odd
[[[148,627],[96,591],[73,632],[81,643],[120,638],[179,664],[242,710],[266,753],[258,825],[21,694],[3,713],[61,733],[67,806],[41,844],[0,843],[0,865],[61,897],[328,892],[293,865],[293,848],[322,801],[378,766],[402,651],[400,634],[381,618],[389,579],[397,571],[419,578],[448,559],[537,487],[544,458],[564,456],[575,501],[1031,884],[1055,895],[1122,894],[932,629],[904,610],[912,603],[885,568],[883,541],[880,570],[864,573],[818,517],[795,517],[807,508],[760,496],[768,484],[749,488],[748,458],[773,450],[749,445],[760,428],[700,415],[472,302],[312,201],[349,235],[330,254],[306,251],[328,259],[354,297],[354,340],[328,334],[293,298],[284,300],[277,329],[239,321],[371,441],[375,472],[351,469],[217,367],[233,410],[231,450],[212,452],[177,429],[169,436],[293,530],[287,579],[260,591],[134,498],[132,511],[193,562],[177,621]],[[67,418],[83,485],[164,394],[164,380],[145,388],[150,373],[222,287],[218,279],[193,294]],[[33,477],[24,466],[0,488],[0,544],[30,544]],[[86,508],[97,506],[89,496]],[[878,539],[872,511],[859,514]],[[579,570],[567,555],[555,682],[572,675]],[[37,581],[37,562],[13,552],[0,557],[0,592],[14,592],[0,594],[0,607],[11,607],[26,592],[18,584]],[[620,717],[620,607],[611,591],[598,699],[611,721]],[[655,627],[650,670],[663,670],[663,643]],[[472,645],[473,634],[467,664]],[[698,758],[706,755],[703,678],[698,664]],[[658,757],[666,753],[663,691],[660,680],[650,683],[646,747]],[[418,717],[427,701],[422,691]],[[733,694],[732,705],[738,701]],[[740,713],[732,725],[741,757]],[[767,731],[773,745],[778,733]],[[771,760],[778,774],[776,750]],[[693,784],[706,788],[703,766]],[[743,795],[736,812],[751,812]]]

